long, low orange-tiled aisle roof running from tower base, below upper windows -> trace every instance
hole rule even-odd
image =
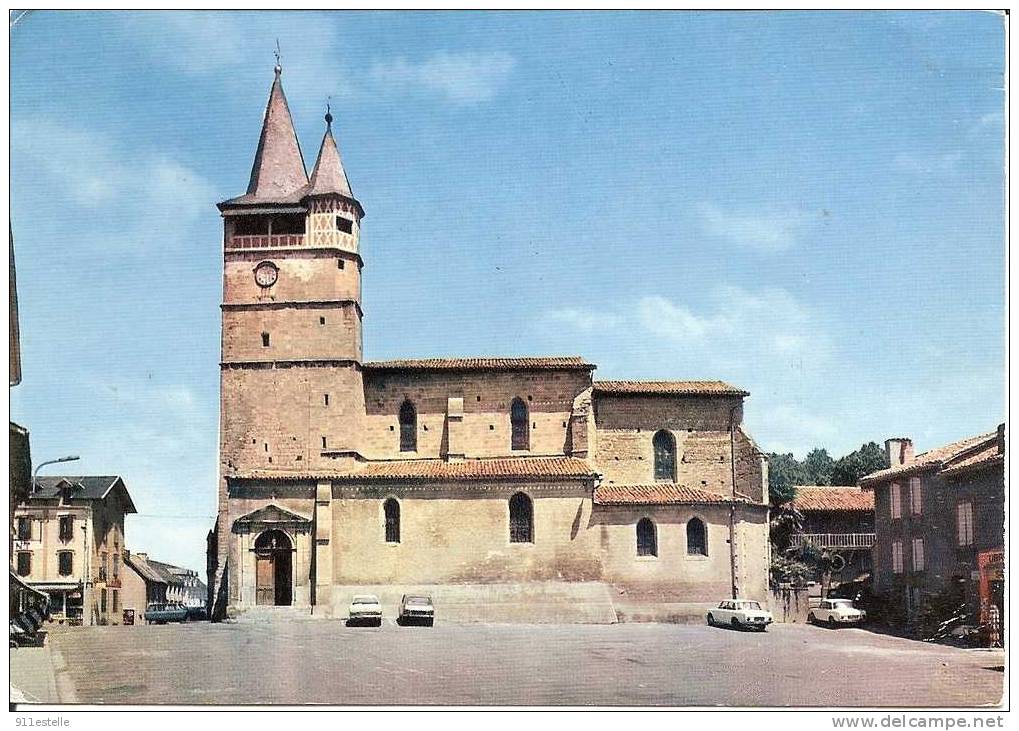
[[[234,475],[239,479],[337,479],[337,480],[498,480],[535,478],[545,480],[594,479],[590,466],[576,457],[508,457],[446,462],[445,460],[394,460],[369,462],[358,469],[314,473],[254,470]]]

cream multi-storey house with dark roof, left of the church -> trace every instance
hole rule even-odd
[[[124,516],[136,512],[120,477],[40,477],[14,509],[14,572],[50,596],[55,620],[116,624]]]

